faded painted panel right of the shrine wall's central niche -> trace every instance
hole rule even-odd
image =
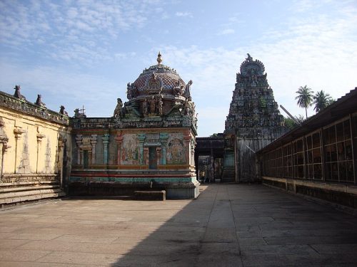
[[[168,164],[186,163],[183,134],[174,133],[169,135],[169,140],[166,147],[166,162]]]

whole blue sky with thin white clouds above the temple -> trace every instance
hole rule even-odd
[[[357,87],[357,0],[0,0],[0,90],[21,85],[51,110],[111,117],[159,51],[193,80],[199,137],[224,131],[247,53],[278,105],[304,115],[300,86],[335,99]]]

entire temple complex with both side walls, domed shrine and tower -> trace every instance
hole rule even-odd
[[[195,199],[199,178],[263,182],[356,209],[357,88],[288,132],[263,63],[248,54],[224,132],[196,139],[193,82],[161,62],[159,53],[127,84],[111,117],[86,117],[84,107],[69,117],[19,85],[0,92],[0,206],[65,195]]]

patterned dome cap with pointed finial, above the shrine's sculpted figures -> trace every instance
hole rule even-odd
[[[138,96],[144,95],[147,90],[154,88],[160,88],[161,93],[166,94],[173,94],[175,87],[185,88],[186,83],[181,79],[176,70],[161,64],[161,61],[161,54],[159,52],[158,63],[145,68],[134,83],[128,84],[128,88],[136,90]]]

